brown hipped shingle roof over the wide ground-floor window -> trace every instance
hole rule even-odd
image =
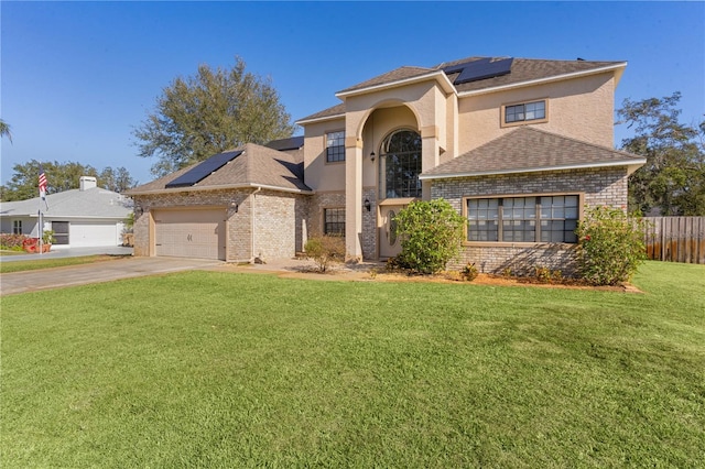
[[[618,165],[639,167],[644,163],[646,159],[631,153],[531,127],[521,127],[424,172],[420,178],[437,179]]]

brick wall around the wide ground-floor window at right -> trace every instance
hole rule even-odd
[[[463,214],[463,198],[471,196],[509,196],[532,194],[582,194],[587,207],[608,205],[627,206],[627,168],[590,168],[527,174],[491,175],[433,181],[432,198],[444,198]],[[464,246],[459,259],[448,269],[475,263],[480,272],[529,274],[535,266],[561,270],[573,275],[576,270],[575,244],[541,243],[531,247]]]

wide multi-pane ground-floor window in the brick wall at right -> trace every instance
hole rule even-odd
[[[577,242],[577,195],[467,199],[467,240]]]

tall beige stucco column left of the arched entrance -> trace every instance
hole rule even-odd
[[[362,141],[345,139],[345,260],[361,261]]]

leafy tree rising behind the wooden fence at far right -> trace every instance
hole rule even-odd
[[[641,101],[625,99],[618,122],[634,129],[621,150],[647,157],[629,177],[629,206],[648,214],[705,215],[705,121],[679,122],[680,92]]]

